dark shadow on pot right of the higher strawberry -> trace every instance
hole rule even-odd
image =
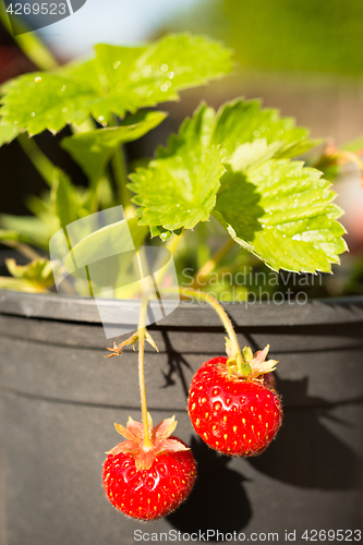
[[[282,400],[294,399],[295,408],[285,411],[281,429],[266,452],[247,459],[249,462],[256,470],[294,486],[323,489],[360,487],[361,458],[332,435],[320,419],[334,420],[341,426],[352,424],[329,413],[336,405],[323,398],[307,396],[307,378],[278,379],[277,390]]]

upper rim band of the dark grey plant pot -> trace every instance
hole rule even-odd
[[[120,322],[122,306],[122,323],[137,324],[140,301],[136,300],[101,300],[100,304],[114,319]],[[155,320],[159,327],[220,327],[220,320],[214,310],[206,303],[182,302],[178,308],[168,315],[168,308],[174,302],[166,301],[167,316]],[[363,295],[331,298],[308,301],[304,304],[283,302],[277,303],[223,303],[235,326],[297,326],[318,324],[347,324],[363,322]],[[152,301],[149,312],[158,313],[159,303]],[[0,314],[43,318],[60,322],[101,324],[97,305],[86,298],[70,298],[48,293],[24,293],[0,290]],[[156,314],[157,315],[157,314]]]

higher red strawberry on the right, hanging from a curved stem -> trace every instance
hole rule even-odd
[[[275,368],[265,362],[268,352],[252,354],[244,349],[244,361],[252,373],[247,378],[235,372],[227,358],[204,363],[192,380],[189,414],[195,432],[215,450],[228,456],[259,455],[271,443],[282,421],[281,402],[263,374]],[[234,362],[235,363],[235,362]]]

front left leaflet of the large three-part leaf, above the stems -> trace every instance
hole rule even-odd
[[[140,225],[172,231],[192,229],[209,218],[226,170],[225,153],[210,145],[213,116],[210,108],[199,108],[182,124],[178,136],[169,138],[168,147],[159,148],[147,169],[130,175],[129,187],[137,194],[133,202],[142,207]]]

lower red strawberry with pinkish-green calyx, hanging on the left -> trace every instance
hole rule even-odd
[[[166,517],[193,488],[196,465],[192,452],[177,437],[174,417],[148,429],[152,446],[144,445],[143,424],[114,424],[128,440],[114,447],[104,463],[104,486],[111,504],[129,517],[153,520]],[[169,438],[170,437],[170,438]]]

